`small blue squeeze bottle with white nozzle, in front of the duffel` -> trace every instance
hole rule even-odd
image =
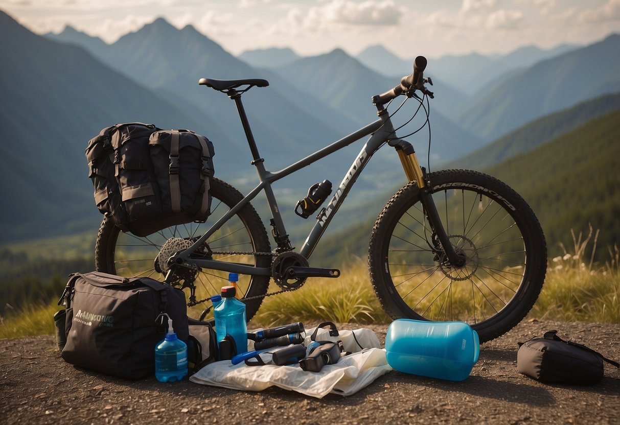
[[[168,317],[168,333],[155,346],[155,377],[159,382],[174,382],[186,375],[187,344],[177,338]]]

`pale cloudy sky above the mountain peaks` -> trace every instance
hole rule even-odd
[[[113,43],[164,17],[233,55],[269,47],[356,55],[381,44],[401,58],[586,45],[620,33],[620,0],[0,0],[35,33],[65,25]]]

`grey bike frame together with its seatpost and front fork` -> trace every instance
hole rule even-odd
[[[252,201],[252,199],[254,199],[255,196],[257,196],[261,191],[264,191],[265,196],[267,197],[269,208],[271,210],[274,236],[276,237],[278,248],[280,248],[280,252],[290,250],[291,248],[290,242],[288,240],[288,234],[286,234],[285,225],[282,220],[280,210],[278,209],[278,204],[272,190],[272,183],[277,182],[278,180],[285,178],[291,173],[301,170],[308,165],[314,164],[314,162],[316,162],[317,160],[322,159],[329,154],[332,154],[333,152],[339,151],[343,147],[347,147],[353,142],[360,141],[366,136],[370,136],[370,138],[361,148],[360,153],[355,157],[353,163],[351,164],[351,167],[343,176],[342,182],[335,190],[334,196],[332,196],[327,206],[321,209],[319,214],[316,216],[316,223],[309,232],[308,237],[306,238],[305,242],[301,247],[301,250],[299,250],[299,253],[301,255],[303,255],[305,258],[309,258],[311,256],[314,248],[316,248],[319,240],[321,240],[322,234],[324,234],[332,218],[335,216],[335,213],[339,210],[344,199],[347,197],[349,191],[359,177],[361,171],[364,169],[366,164],[368,164],[368,161],[370,161],[374,153],[378,151],[379,147],[383,146],[383,144],[385,144],[386,142],[390,146],[396,148],[396,151],[398,152],[401,159],[405,175],[409,179],[409,181],[417,182],[419,188],[425,188],[425,186],[427,186],[427,182],[425,180],[425,173],[418,164],[418,160],[415,156],[415,151],[413,147],[409,144],[409,142],[406,142],[396,137],[391,118],[386,112],[386,110],[383,108],[383,105],[376,105],[379,111],[379,119],[374,121],[373,123],[370,123],[369,125],[358,129],[357,131],[349,134],[348,136],[345,136],[338,141],[332,142],[332,144],[329,144],[328,146],[319,149],[319,151],[316,151],[313,154],[301,160],[298,160],[297,162],[294,162],[293,164],[285,167],[284,169],[281,169],[280,171],[270,172],[265,169],[264,160],[259,155],[256,143],[254,141],[254,136],[252,136],[252,131],[250,129],[246,113],[241,103],[241,94],[242,92],[231,92],[228,95],[236,102],[237,110],[239,112],[239,116],[241,118],[241,122],[246,132],[248,143],[250,145],[250,151],[252,152],[252,156],[254,157],[252,165],[254,165],[257,169],[257,173],[259,175],[259,184],[246,196],[244,196],[244,198],[239,201],[239,203],[237,203],[226,214],[224,214],[224,216],[222,216],[217,222],[215,222],[215,224],[213,224],[210,229],[208,229],[198,240],[196,240],[191,247],[187,248],[183,252],[177,253],[172,257],[172,261],[179,265],[190,264],[201,268],[216,269],[232,273],[270,276],[270,268],[261,268],[240,263],[230,263],[226,261],[213,260],[210,258],[190,258],[190,255],[192,255],[195,250],[200,248],[203,243],[205,243],[205,241],[214,232],[216,232],[216,230],[223,226],[223,224],[228,221],[228,219],[230,219],[234,214],[236,214],[239,209],[243,208],[246,204]],[[428,211],[429,221],[431,222],[433,228],[439,228],[439,231],[437,229],[435,229],[435,231],[439,236],[441,244],[446,247],[446,245],[444,245],[444,242],[449,242],[448,236],[443,230],[443,226],[441,226],[441,223],[438,219],[435,204],[432,202],[432,198],[430,197],[430,194],[427,190],[423,191],[422,196],[423,198],[425,198],[425,207],[430,210]],[[283,237],[278,240],[278,235],[283,235]],[[454,252],[451,244],[448,243],[447,245],[448,249],[446,250],[446,254],[448,254],[448,257],[453,255],[454,258],[457,258],[457,254]]]

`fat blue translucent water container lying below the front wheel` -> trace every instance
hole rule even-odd
[[[387,364],[407,374],[462,381],[479,354],[478,334],[465,322],[397,319],[387,328]]]

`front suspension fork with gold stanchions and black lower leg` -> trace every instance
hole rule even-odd
[[[449,236],[441,223],[439,212],[435,206],[435,201],[432,196],[433,186],[428,180],[428,175],[423,167],[420,167],[418,157],[415,154],[414,147],[402,139],[398,141],[390,141],[389,144],[396,148],[398,156],[401,159],[402,168],[405,171],[405,176],[409,182],[416,182],[420,189],[420,201],[422,202],[422,208],[426,215],[433,234],[436,235],[436,239],[441,244],[441,248],[448,258],[451,265],[456,267],[463,267],[465,265],[465,256],[463,253],[458,253],[454,249],[454,245],[450,242]],[[433,241],[435,242],[435,241]]]

